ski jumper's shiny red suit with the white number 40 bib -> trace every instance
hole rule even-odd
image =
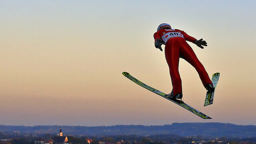
[[[204,66],[186,42],[186,40],[188,40],[194,43],[196,40],[195,38],[189,36],[186,32],[177,29],[159,30],[154,34],[155,41],[157,38],[162,38],[165,44],[165,57],[170,69],[173,87],[172,92],[174,96],[178,93],[182,93],[181,78],[178,71],[179,58],[183,58],[196,68],[204,87],[207,83],[212,84]]]

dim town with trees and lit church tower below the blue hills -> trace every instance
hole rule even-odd
[[[55,136],[52,134],[43,134],[41,136],[33,136],[33,134],[24,136],[19,132],[13,132],[12,134],[0,132],[0,144],[256,144],[256,137],[211,138],[200,135],[182,137],[174,134],[74,137],[64,135],[61,129]]]

